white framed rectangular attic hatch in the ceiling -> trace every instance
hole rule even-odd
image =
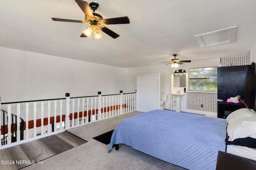
[[[233,43],[236,41],[236,28],[237,26],[234,26],[217,31],[194,35],[194,38],[200,47],[210,47],[214,45]]]

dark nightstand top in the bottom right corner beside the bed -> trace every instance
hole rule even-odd
[[[219,151],[216,170],[256,170],[256,161]]]

